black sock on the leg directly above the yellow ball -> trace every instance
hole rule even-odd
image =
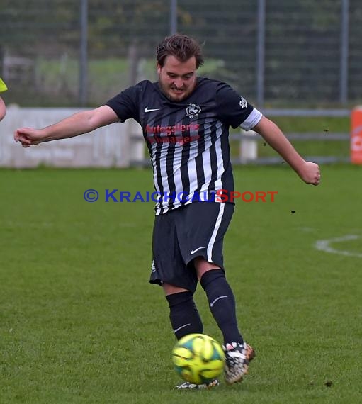
[[[177,340],[188,334],[203,333],[203,322],[190,291],[166,296],[170,308],[170,321]]]

